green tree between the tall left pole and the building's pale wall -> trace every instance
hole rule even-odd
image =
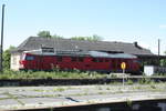
[[[3,52],[3,69],[10,69],[11,50],[13,49],[15,49],[15,47],[10,47]]]

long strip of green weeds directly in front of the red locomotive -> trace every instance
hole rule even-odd
[[[0,79],[100,79],[107,74],[97,72],[68,71],[11,71],[4,70]]]

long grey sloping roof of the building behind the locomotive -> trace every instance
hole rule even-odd
[[[54,48],[61,50],[86,50],[86,51],[104,51],[104,52],[122,52],[136,56],[153,56],[151,50],[142,48],[134,43],[125,42],[108,42],[108,41],[87,41],[87,40],[71,40],[58,38],[40,38],[30,37],[23,41],[14,52],[38,50],[42,47]]]

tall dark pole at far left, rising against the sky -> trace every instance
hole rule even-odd
[[[1,63],[0,63],[0,71],[3,72],[3,26],[4,26],[4,4],[2,4],[2,21],[1,21]]]

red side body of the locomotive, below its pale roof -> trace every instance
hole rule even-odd
[[[62,70],[83,70],[100,72],[122,72],[121,63],[126,63],[126,72],[139,70],[137,59],[126,58],[94,58],[94,57],[72,57],[72,56],[41,56],[24,53],[20,61],[20,69],[25,70],[53,70],[59,67]]]

